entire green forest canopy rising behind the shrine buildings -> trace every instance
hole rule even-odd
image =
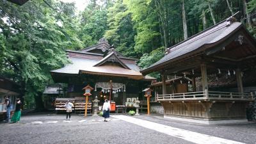
[[[0,1],[0,75],[24,89],[26,107],[42,108],[42,92],[53,83],[50,70],[70,63],[65,50],[107,38],[116,51],[146,68],[165,49],[234,15],[256,36],[256,0],[88,0],[74,3]],[[159,74],[152,74],[159,77]]]

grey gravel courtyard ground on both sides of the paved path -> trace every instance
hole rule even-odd
[[[140,115],[134,118],[218,136],[228,140],[256,143],[255,123],[209,126],[185,124],[154,115]],[[84,118],[83,116],[72,115],[70,122],[65,123],[63,122],[65,115],[26,115],[22,116],[18,124],[0,124],[0,143],[191,143],[122,120],[110,119],[111,121],[109,122],[103,122],[101,117],[88,116]],[[81,120],[86,121],[81,122]],[[32,124],[35,121],[40,121],[42,124]],[[47,123],[54,121],[58,122],[55,124]]]

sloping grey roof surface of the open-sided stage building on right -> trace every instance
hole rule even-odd
[[[236,29],[241,28],[241,26],[242,24],[240,22],[230,23],[230,21],[224,20],[223,22],[220,22],[209,29],[205,29],[205,31],[202,31],[195,36],[191,36],[191,38],[188,38],[187,40],[168,48],[170,51],[168,54],[153,65],[150,65],[150,67],[141,70],[141,72],[143,74],[148,74],[152,71],[152,69],[159,67],[167,61],[179,60],[179,58],[185,54],[189,55],[193,54],[195,51],[200,51],[200,48],[202,48],[204,45],[219,42],[223,38],[230,35],[230,33],[236,31]]]

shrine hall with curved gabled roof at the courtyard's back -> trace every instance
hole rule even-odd
[[[125,106],[127,100],[145,99],[142,90],[154,80],[140,73],[136,59],[115,51],[104,38],[91,47],[67,51],[67,56],[71,63],[52,70],[51,76],[55,83],[68,84],[70,98],[83,97],[83,87],[90,84],[94,90],[89,100],[97,96],[100,102],[111,99],[116,106]]]

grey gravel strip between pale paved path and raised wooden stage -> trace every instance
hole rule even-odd
[[[140,115],[136,118],[228,140],[256,144],[256,122],[248,122],[246,124],[204,125],[170,120],[168,118],[163,118],[163,116],[160,115]]]

